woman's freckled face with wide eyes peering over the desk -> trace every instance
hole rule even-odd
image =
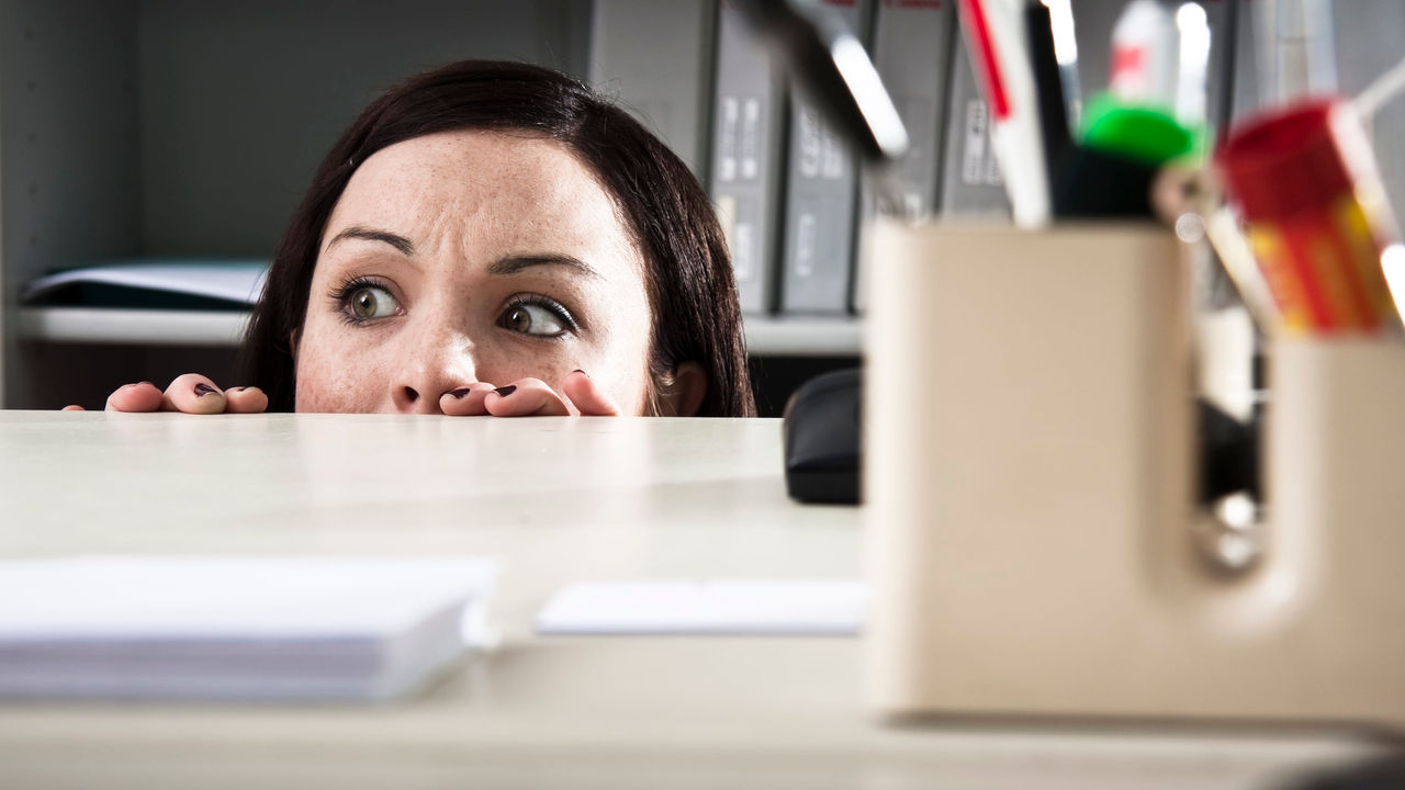
[[[377,152],[322,238],[296,356],[299,412],[437,413],[473,382],[586,371],[646,402],[643,254],[561,143],[444,132]]]

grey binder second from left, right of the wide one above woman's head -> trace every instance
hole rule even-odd
[[[776,306],[784,98],[778,63],[740,10],[719,0],[710,188],[742,312],[752,315]]]

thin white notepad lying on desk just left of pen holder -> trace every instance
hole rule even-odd
[[[537,616],[537,631],[851,637],[863,626],[867,600],[867,586],[857,581],[584,582],[547,602]]]

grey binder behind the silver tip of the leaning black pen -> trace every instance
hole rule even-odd
[[[934,214],[940,207],[941,143],[954,34],[955,10],[950,1],[881,0],[874,14],[874,66],[898,107],[910,141],[908,155],[896,169],[909,216]],[[864,281],[870,266],[870,221],[877,211],[870,184],[861,184],[860,195],[854,312],[867,306]]]

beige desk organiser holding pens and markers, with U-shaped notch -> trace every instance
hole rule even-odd
[[[877,713],[1405,723],[1405,585],[1388,572],[1405,562],[1388,529],[1405,520],[1388,485],[1405,349],[1280,349],[1279,516],[1259,561],[1227,574],[1196,537],[1173,235],[885,221],[873,254]],[[1347,457],[1378,464],[1322,467]]]

